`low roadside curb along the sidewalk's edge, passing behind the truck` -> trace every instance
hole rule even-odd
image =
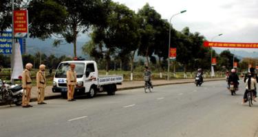
[[[204,82],[215,82],[215,81],[222,81],[224,79],[208,79],[204,80]],[[193,82],[175,82],[175,83],[167,83],[167,84],[154,84],[153,86],[167,86],[167,85],[177,85],[177,84],[191,84]],[[131,90],[131,89],[136,89],[136,88],[144,88],[144,86],[133,86],[133,87],[127,87],[127,88],[118,88],[118,91],[120,90]],[[50,99],[58,99],[61,98],[61,95],[53,95],[53,96],[47,96],[45,97],[45,100],[50,100]],[[32,98],[30,99],[30,102],[35,102],[38,99]],[[9,105],[9,103],[0,103],[0,105]]]

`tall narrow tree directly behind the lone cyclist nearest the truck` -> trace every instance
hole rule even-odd
[[[141,44],[138,55],[145,56],[147,66],[149,66],[149,57],[153,54],[155,46],[154,40],[155,34],[157,33],[155,27],[162,23],[161,16],[149,5],[149,3],[144,5],[143,8],[138,11],[138,15],[143,18],[141,25]]]

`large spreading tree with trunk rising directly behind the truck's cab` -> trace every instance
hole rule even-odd
[[[32,37],[57,39],[54,46],[63,42],[74,45],[79,33],[85,33],[92,25],[105,26],[110,0],[36,0],[29,6],[32,21]]]

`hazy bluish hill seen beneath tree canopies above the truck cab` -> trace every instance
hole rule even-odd
[[[89,38],[85,42],[89,41]],[[45,53],[46,55],[54,54],[56,56],[67,55],[74,56],[74,46],[72,44],[60,45],[58,47],[53,46],[54,39],[47,38],[45,40],[40,40],[39,38],[28,38],[27,39],[27,53],[34,54],[38,51]],[[77,42],[77,56],[87,58],[87,55],[82,53],[82,47],[85,42]]]

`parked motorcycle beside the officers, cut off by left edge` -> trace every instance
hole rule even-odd
[[[0,79],[0,102],[21,105],[23,88],[18,84],[6,84]]]

